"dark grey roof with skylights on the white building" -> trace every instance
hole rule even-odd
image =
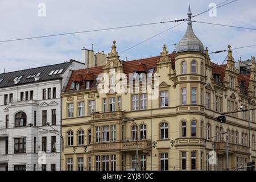
[[[49,80],[58,80],[61,78],[61,73],[64,73],[67,70],[67,68],[69,67],[69,65],[72,64],[73,61],[75,61],[75,60],[71,60],[67,63],[53,64],[53,65],[47,65],[44,67],[24,69],[24,70],[8,72],[8,73],[1,73],[0,74],[0,88],[35,82],[34,77],[31,77],[31,78],[27,78],[27,77],[30,75],[38,74],[38,73],[41,73],[39,76],[40,79],[38,80],[38,82],[49,81]],[[57,69],[59,69],[59,70],[63,69],[63,71],[56,75],[49,75],[49,73],[51,73],[51,71],[57,70]],[[20,76],[22,76],[22,78],[20,79],[18,84],[14,84],[14,81],[13,81],[14,78],[20,77]],[[3,80],[2,80],[2,78],[3,78]]]

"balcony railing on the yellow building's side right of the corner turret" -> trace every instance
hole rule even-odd
[[[226,152],[226,142],[216,142],[215,150],[219,152]],[[229,152],[249,155],[250,147],[229,143]]]

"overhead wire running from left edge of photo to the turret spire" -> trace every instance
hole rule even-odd
[[[88,32],[115,30],[115,29],[121,29],[121,28],[141,27],[141,26],[149,26],[149,25],[154,25],[154,24],[174,23],[174,22],[177,22],[177,21],[179,21],[179,20],[170,20],[170,21],[164,21],[164,22],[134,24],[134,25],[130,25],[130,26],[121,26],[121,27],[100,28],[100,29],[95,29],[95,30],[85,30],[85,31],[77,31],[77,32],[67,32],[67,33],[63,33],[63,34],[52,34],[52,35],[32,36],[32,37],[28,37],[28,38],[17,38],[17,39],[9,39],[9,40],[0,40],[0,43],[3,43],[3,42],[13,42],[13,41],[18,41],[18,40],[29,40],[29,39],[38,39],[38,38],[48,38],[48,37],[62,36],[62,35],[82,34],[82,33],[88,33]],[[185,21],[185,19],[184,19],[184,21]]]

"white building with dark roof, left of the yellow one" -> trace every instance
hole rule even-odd
[[[0,74],[0,171],[58,171],[61,161],[61,91],[66,63]]]

